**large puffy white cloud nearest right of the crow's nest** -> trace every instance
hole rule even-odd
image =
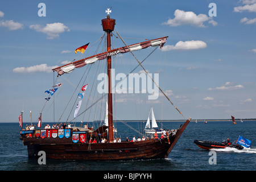
[[[170,18],[163,24],[167,24],[172,27],[181,26],[184,24],[191,24],[192,26],[196,27],[205,27],[203,23],[209,20],[208,23],[212,23],[213,26],[217,25],[217,22],[215,22],[212,17],[205,14],[196,15],[192,11],[175,10],[174,16],[174,19]]]

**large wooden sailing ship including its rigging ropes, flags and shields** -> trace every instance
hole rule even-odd
[[[96,110],[94,109],[99,109],[101,112],[106,111],[105,114],[108,115],[108,117],[106,117],[106,124],[102,126],[97,126],[97,127],[94,127],[96,125],[94,125],[93,127],[87,127],[87,126],[82,127],[82,122],[81,122],[81,127],[74,126],[74,127],[71,127],[71,129],[65,129],[65,127],[63,127],[63,129],[59,128],[59,129],[47,129],[47,130],[33,130],[31,131],[32,137],[27,137],[27,134],[24,131],[20,131],[20,135],[21,135],[20,139],[22,139],[23,144],[27,146],[28,157],[38,158],[38,152],[44,151],[46,152],[46,157],[48,159],[64,159],[64,160],[67,160],[67,159],[68,160],[139,160],[139,159],[167,158],[172,148],[175,146],[177,140],[180,138],[181,134],[187,127],[188,123],[191,121],[191,118],[185,119],[186,121],[183,123],[183,125],[181,125],[177,129],[170,130],[171,132],[166,133],[166,137],[163,139],[159,139],[158,138],[159,136],[157,136],[156,134],[155,139],[146,139],[146,140],[141,140],[136,142],[124,142],[124,141],[114,142],[115,140],[114,140],[113,133],[114,131],[117,131],[117,130],[113,125],[113,113],[115,113],[115,111],[113,111],[113,101],[115,100],[113,100],[112,98],[112,89],[113,89],[112,86],[114,85],[110,84],[112,80],[112,76],[111,76],[112,57],[117,57],[117,55],[120,53],[125,54],[127,52],[130,52],[134,56],[135,60],[137,60],[139,65],[141,65],[141,67],[143,68],[141,62],[135,57],[133,52],[146,49],[149,47],[155,47],[155,49],[152,51],[154,52],[158,47],[160,48],[163,47],[164,43],[166,43],[168,36],[157,38],[157,39],[151,39],[151,40],[147,39],[145,42],[135,43],[130,46],[127,46],[127,44],[124,42],[122,37],[115,30],[115,32],[118,34],[120,38],[118,40],[122,40],[125,46],[120,48],[113,48],[114,46],[112,45],[111,40],[114,38],[114,36],[112,37],[112,31],[114,31],[115,19],[110,18],[109,13],[110,11],[108,10],[107,17],[101,20],[102,28],[105,31],[104,36],[101,35],[101,39],[106,39],[106,40],[100,41],[100,43],[102,43],[102,45],[104,44],[103,46],[105,47],[105,50],[106,50],[105,52],[97,53],[93,56],[89,56],[81,60],[72,61],[71,63],[52,69],[53,72],[57,73],[57,78],[60,78],[61,75],[71,73],[79,68],[82,69],[82,67],[85,67],[87,64],[89,65],[98,64],[97,67],[105,68],[105,72],[108,75],[108,79],[106,80],[106,82],[108,82],[108,86],[107,86],[107,89],[109,91],[108,94],[102,94],[102,97],[99,96],[98,93],[94,94],[94,95],[97,95],[97,98],[90,98],[90,100],[92,101],[91,103],[92,105],[86,105],[86,110],[82,112],[79,109],[80,109],[80,106],[82,107],[82,99],[85,100],[85,98],[83,98],[85,96],[84,93],[88,89],[89,90],[92,89],[90,88],[91,85],[95,86],[97,84],[84,85],[84,83],[81,83],[82,86],[80,85],[80,89],[77,89],[78,87],[76,88],[76,90],[79,90],[79,94],[77,95],[75,103],[77,103],[77,99],[79,99],[80,106],[79,108],[78,107],[76,108],[74,118],[76,119],[80,117],[80,115],[82,113],[85,113],[86,111],[97,113]],[[102,66],[101,64],[104,64],[104,66]],[[94,68],[92,69],[93,69],[92,71],[93,77],[95,77],[95,75],[98,75],[98,73],[100,73],[98,70],[96,71]],[[146,69],[144,69],[144,71],[145,73],[147,73]],[[87,75],[87,73],[84,75]],[[148,73],[147,75],[149,76]],[[57,78],[55,78],[55,81],[57,80]],[[152,84],[157,85],[152,77],[151,77],[151,80],[152,80]],[[53,85],[55,85],[53,86],[53,89],[46,90],[46,93],[49,94],[46,102],[49,101],[50,95],[52,96],[53,94],[56,94],[56,92],[61,92],[61,89],[57,90],[55,87],[61,86],[62,83],[61,84],[55,83]],[[159,86],[158,86],[158,89],[163,93],[164,97],[167,98],[168,102],[170,102],[171,105],[174,106],[174,104],[168,98],[167,94],[165,94],[163,90],[160,89]],[[93,96],[93,97],[96,97],[96,96]],[[101,104],[99,103],[98,104],[102,105],[102,103],[105,102],[105,99],[106,99],[106,102],[108,102],[108,108],[106,108],[106,110],[102,108],[98,108],[97,102],[101,101]],[[90,109],[92,107],[93,109]],[[177,109],[176,106],[175,106],[175,109],[179,112],[179,114],[181,114],[181,112]],[[129,110],[127,112],[129,112]],[[102,114],[98,114],[98,113],[95,114],[95,113],[93,114],[90,113],[91,115],[94,115],[93,116],[94,120],[90,118],[88,119],[88,122],[91,120],[101,121],[102,118],[100,118],[99,120],[98,117],[102,117]],[[183,114],[181,115],[183,116]],[[183,116],[183,118],[185,117]],[[68,117],[68,119],[70,118]],[[68,122],[68,119],[66,123]],[[72,122],[73,120],[74,119],[72,119],[69,122]],[[43,123],[42,118],[40,118],[39,121]],[[22,123],[20,126],[22,127]],[[134,131],[139,131],[139,130],[134,129]],[[141,137],[142,135],[144,135],[139,132],[138,134]],[[121,133],[119,134],[119,130],[118,130],[118,135],[121,136],[125,134],[121,134]],[[102,139],[106,139],[106,142],[103,142],[103,141],[101,142]],[[94,142],[92,142],[92,140],[94,140]]]

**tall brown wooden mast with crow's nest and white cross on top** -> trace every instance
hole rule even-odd
[[[107,51],[111,50],[111,35],[110,33],[114,30],[115,19],[110,19],[109,13],[111,10],[106,10],[108,16],[105,19],[102,19],[102,27],[103,30],[107,34]],[[111,56],[108,56],[108,85],[109,85],[109,93],[108,93],[108,104],[109,104],[109,142],[113,142],[113,106],[112,106],[112,84],[111,84]]]

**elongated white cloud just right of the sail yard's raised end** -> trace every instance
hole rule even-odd
[[[175,46],[166,45],[162,48],[162,51],[172,51],[172,50],[195,50],[203,49],[207,47],[207,43],[201,40],[190,40],[190,41],[179,41]]]

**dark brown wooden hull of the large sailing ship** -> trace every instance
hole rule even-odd
[[[139,142],[77,143],[69,138],[36,138],[22,134],[27,146],[28,158],[38,158],[39,151],[46,152],[47,159],[64,160],[140,160],[167,158],[177,140],[187,127],[189,118],[174,135],[164,139],[147,139]],[[72,136],[72,131],[71,131]]]

